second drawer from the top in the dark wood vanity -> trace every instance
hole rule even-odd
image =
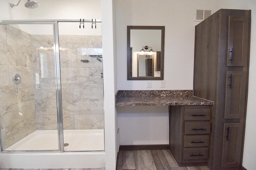
[[[210,122],[186,122],[185,134],[209,134]]]

